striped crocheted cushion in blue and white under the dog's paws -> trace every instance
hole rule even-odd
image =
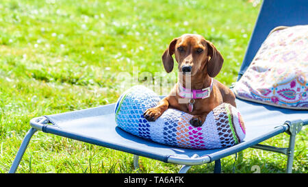
[[[116,124],[147,140],[192,149],[231,147],[245,137],[240,112],[228,103],[211,111],[201,127],[193,127],[189,122],[192,115],[171,108],[154,122],[144,119],[144,111],[155,107],[159,100],[152,90],[133,86],[116,103]]]

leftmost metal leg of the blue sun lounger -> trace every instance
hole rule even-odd
[[[31,128],[25,135],[25,138],[23,138],[23,142],[21,143],[21,147],[19,148],[17,155],[14,159],[14,162],[12,163],[12,166],[10,168],[9,173],[15,173],[19,163],[21,162],[21,158],[23,158],[23,153],[25,153],[25,149],[27,149],[27,146],[29,144],[29,141],[31,137],[34,135],[34,133],[37,131],[37,129]]]

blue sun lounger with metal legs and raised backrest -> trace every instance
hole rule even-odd
[[[265,0],[261,6],[238,79],[246,71],[261,43],[274,27],[306,25],[308,23],[307,12],[308,1],[306,0]],[[138,157],[143,156],[162,162],[181,164],[183,167],[179,173],[186,173],[193,165],[215,162],[214,172],[220,173],[221,158],[253,147],[287,155],[287,173],[292,173],[295,137],[304,125],[308,125],[308,111],[277,108],[240,99],[236,100],[236,104],[245,119],[246,138],[244,142],[229,148],[211,150],[171,147],[124,132],[116,127],[115,104],[36,117],[30,121],[31,129],[23,139],[9,173],[16,171],[31,137],[37,131],[131,153],[134,155],[133,163],[136,167],[138,167]],[[290,134],[290,144],[287,148],[259,144],[284,132]]]

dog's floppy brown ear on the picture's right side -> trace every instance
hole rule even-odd
[[[207,54],[210,59],[207,62],[207,73],[210,77],[216,77],[222,68],[224,59],[216,47],[209,41],[207,41]]]

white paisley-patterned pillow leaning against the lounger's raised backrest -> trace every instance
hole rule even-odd
[[[308,110],[308,25],[272,32],[233,91],[240,99]]]

